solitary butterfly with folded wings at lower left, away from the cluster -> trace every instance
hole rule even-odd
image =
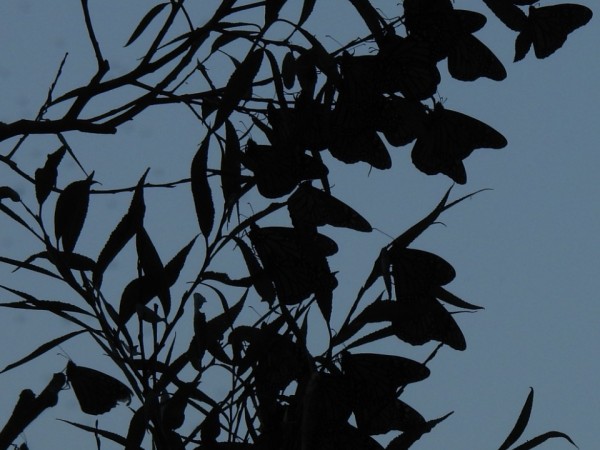
[[[84,413],[99,415],[113,409],[117,402],[131,401],[131,390],[116,378],[89,367],[67,363],[67,379]]]

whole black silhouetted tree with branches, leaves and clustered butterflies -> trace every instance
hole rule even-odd
[[[333,50],[305,28],[319,3],[225,0],[210,15],[203,11],[208,20],[188,11],[183,0],[158,3],[125,43],[138,46],[140,59],[114,74],[96,37],[99,24],[82,0],[96,73],[59,92],[68,70],[61,64],[36,117],[0,124],[2,141],[13,143],[0,157],[2,167],[35,193],[25,201],[14,186],[1,187],[0,211],[38,248],[0,261],[28,271],[32,282],[59,282],[79,297],[41,298],[6,280],[2,289],[12,298],[1,306],[46,311],[75,329],[38,343],[4,372],[87,336],[122,372],[122,381],[69,360],[64,373],[48,375],[42,393],[21,392],[0,433],[0,448],[56,405],[66,383],[86,414],[105,414],[128,402],[126,435],[72,423],[127,449],[382,449],[372,436],[393,431],[385,448],[399,450],[451,414],[425,418],[401,394],[428,377],[427,363],[442,346],[465,350],[447,308],[480,307],[447,290],[456,275],[449,262],[412,244],[444,211],[474,194],[451,200],[448,189],[431,213],[383,247],[347,309],[334,302],[338,281],[328,261],[339,243],[320,230],[331,225],[368,233],[372,227],[332,194],[335,163],[324,156],[384,170],[392,166],[390,146],[412,146],[418,170],[464,184],[463,161],[479,148],[503,148],[507,140],[490,125],[442,105],[438,66],[447,61],[449,74],[463,81],[501,81],[506,70],[475,36],[486,17],[457,9],[450,0],[349,0],[369,34]],[[537,58],[553,54],[592,16],[574,4],[484,3],[490,17],[514,30],[515,61],[531,46]],[[102,109],[98,104],[105,103],[97,100],[105,97],[117,103]],[[72,136],[117,139],[124,124],[165,105],[186,108],[198,122],[197,149],[165,150],[189,167],[188,178],[157,184],[146,171],[135,175],[137,183],[118,188],[99,184],[94,167],[80,164],[85,144],[71,144]],[[17,152],[27,151],[40,134],[53,137],[56,146],[42,167],[29,170]],[[67,158],[81,168],[80,179],[60,176]],[[145,198],[173,187],[181,196],[191,191],[201,237],[190,235],[176,254],[161,255],[148,231]],[[102,194],[123,193],[131,193],[131,200],[122,218],[109,233],[91,236],[84,227],[90,204]],[[256,210],[245,215],[241,205],[252,195]],[[83,253],[78,244],[85,239],[99,241],[97,253]],[[106,295],[105,275],[130,242],[137,270],[127,272],[130,281],[115,301]],[[192,251],[201,258],[191,258]],[[223,270],[224,251],[234,251],[244,264]],[[189,267],[195,273],[186,285],[180,274]],[[185,291],[175,299],[177,284]],[[381,292],[367,296],[375,287]],[[218,311],[207,309],[207,297],[209,303],[220,301]],[[309,324],[314,310],[323,320]],[[315,354],[310,342],[320,328],[327,343]],[[439,345],[422,363],[360,351],[390,337]],[[224,395],[200,384],[211,376]],[[551,431],[515,446],[532,400],[533,391],[500,449],[529,449],[557,437],[572,443]]]

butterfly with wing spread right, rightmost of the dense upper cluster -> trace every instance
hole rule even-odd
[[[467,182],[463,160],[478,148],[503,148],[506,138],[489,125],[445,109],[437,102],[427,117],[425,132],[412,149],[413,164],[428,175],[443,173],[458,184]]]

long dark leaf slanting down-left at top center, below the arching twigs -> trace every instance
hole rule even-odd
[[[255,50],[248,53],[240,66],[235,69],[221,97],[221,102],[215,117],[213,130],[218,130],[231,115],[244,94],[252,87],[252,82],[258,74],[263,59],[263,51]]]

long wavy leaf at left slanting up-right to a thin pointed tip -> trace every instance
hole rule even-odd
[[[149,169],[148,169],[149,170]],[[93,283],[96,287],[100,287],[102,284],[102,275],[112,262],[112,260],[119,254],[119,252],[125,247],[125,244],[135,236],[137,231],[142,227],[144,221],[144,213],[146,212],[146,204],[144,203],[144,182],[148,170],[144,172],[142,178],[138,181],[131,204],[127,213],[123,216],[119,224],[110,234],[108,241],[104,244],[104,248],[98,256],[96,262],[96,270],[93,273]]]

